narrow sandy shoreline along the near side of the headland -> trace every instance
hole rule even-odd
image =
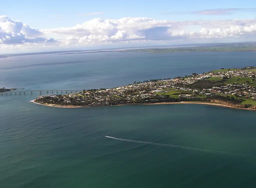
[[[31,102],[36,103],[38,105],[44,105],[44,106],[50,106],[50,107],[58,107],[58,108],[91,108],[91,107],[107,107],[107,106],[61,106],[61,105],[45,105],[38,102],[34,102],[35,100],[32,100]],[[248,108],[237,108],[232,107],[228,105],[223,105],[219,103],[212,103],[212,102],[195,102],[195,101],[181,101],[181,102],[157,102],[157,103],[144,103],[144,104],[123,104],[123,105],[112,105],[112,106],[126,106],[126,105],[169,105],[169,104],[199,104],[199,105],[213,105],[213,106],[221,106],[221,107],[227,107],[227,108],[235,108],[235,109],[241,109],[241,110],[253,110],[255,109],[248,109]]]

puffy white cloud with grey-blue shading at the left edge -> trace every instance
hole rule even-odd
[[[0,44],[22,44],[53,42],[54,39],[47,40],[41,31],[33,29],[27,24],[19,21],[13,21],[7,16],[0,16]]]

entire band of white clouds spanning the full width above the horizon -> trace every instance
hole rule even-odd
[[[168,21],[147,17],[94,18],[73,27],[33,29],[7,16],[0,17],[1,48],[91,46],[147,41],[193,41],[202,39],[256,39],[256,19]],[[52,36],[59,36],[56,41]],[[12,47],[10,47],[12,46]]]

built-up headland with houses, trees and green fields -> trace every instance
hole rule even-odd
[[[256,67],[229,68],[184,77],[134,81],[127,86],[45,96],[35,103],[56,107],[101,107],[204,103],[256,110]]]

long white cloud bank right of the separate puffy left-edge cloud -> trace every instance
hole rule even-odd
[[[95,18],[74,27],[45,29],[45,34],[67,35],[66,44],[95,44],[130,40],[185,40],[241,37],[256,34],[253,20],[196,20],[174,22],[152,18]],[[186,31],[186,26],[199,26],[200,30]]]

